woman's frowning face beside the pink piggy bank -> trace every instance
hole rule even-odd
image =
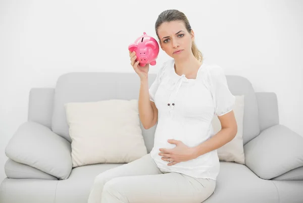
[[[182,21],[162,23],[158,28],[161,48],[174,59],[188,57],[191,52],[191,42],[194,33],[186,30]],[[176,51],[181,50],[176,53]]]

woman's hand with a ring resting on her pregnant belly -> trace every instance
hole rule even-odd
[[[171,144],[176,144],[176,147],[172,149],[159,149],[161,151],[161,153],[159,153],[159,155],[162,156],[161,159],[164,161],[168,161],[169,159],[170,163],[168,163],[168,166],[194,159],[193,148],[185,145],[182,141],[175,139],[169,139],[168,142]]]

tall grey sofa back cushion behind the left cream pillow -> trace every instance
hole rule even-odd
[[[151,85],[156,75],[150,74],[148,78],[148,83]],[[52,130],[71,142],[64,104],[97,102],[108,99],[137,99],[139,90],[140,79],[135,73],[81,72],[63,74],[58,78],[55,87]],[[154,129],[144,130],[143,128],[142,130],[144,131],[143,136],[150,134],[154,136]],[[154,144],[154,139],[144,137],[144,140],[153,141],[152,145]]]

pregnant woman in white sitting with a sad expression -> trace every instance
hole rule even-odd
[[[148,88],[149,65],[131,65],[140,78],[139,117],[145,129],[157,124],[150,154],[95,177],[88,203],[200,203],[216,187],[217,148],[237,133],[223,70],[207,65],[194,43],[187,17],[162,12],[155,25],[159,43],[172,59]],[[218,116],[222,129],[213,133]]]

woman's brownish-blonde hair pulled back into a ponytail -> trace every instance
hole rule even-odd
[[[158,28],[159,26],[164,23],[164,22],[171,22],[171,21],[182,21],[186,27],[186,30],[190,33],[191,32],[191,26],[188,22],[187,17],[185,16],[184,13],[178,11],[178,10],[166,10],[163,11],[159,16],[158,19],[156,21],[155,24],[155,30],[156,30],[156,34],[158,39],[160,40],[160,37],[158,35]],[[200,62],[203,61],[203,55],[200,52],[200,50],[197,48],[195,42],[193,41],[191,43],[191,52],[193,54],[193,56]]]

